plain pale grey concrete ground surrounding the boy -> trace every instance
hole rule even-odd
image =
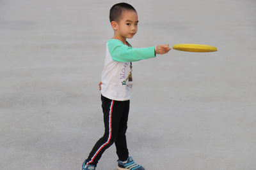
[[[134,62],[132,157],[147,170],[256,169],[256,1],[127,2],[134,48],[218,48]],[[97,83],[115,3],[0,0],[0,169],[81,167],[104,131]],[[97,170],[116,160],[112,146]]]

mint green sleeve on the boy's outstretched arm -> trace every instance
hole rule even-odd
[[[108,50],[112,59],[119,62],[133,62],[156,57],[154,46],[147,48],[131,48],[124,45],[124,43],[118,39],[110,39],[108,41]]]

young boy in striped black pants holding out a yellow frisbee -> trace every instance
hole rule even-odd
[[[171,48],[169,45],[131,47],[126,39],[136,34],[138,15],[130,4],[115,4],[110,10],[109,19],[114,37],[107,41],[106,59],[99,84],[105,132],[88,159],[84,160],[81,170],[95,169],[102,153],[113,143],[118,155],[118,170],[144,170],[129,157],[125,136],[132,92],[132,62],[156,57],[157,53],[167,53]]]

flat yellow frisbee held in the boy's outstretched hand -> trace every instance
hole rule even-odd
[[[175,50],[185,52],[216,52],[217,48],[211,45],[177,44],[172,46]]]

